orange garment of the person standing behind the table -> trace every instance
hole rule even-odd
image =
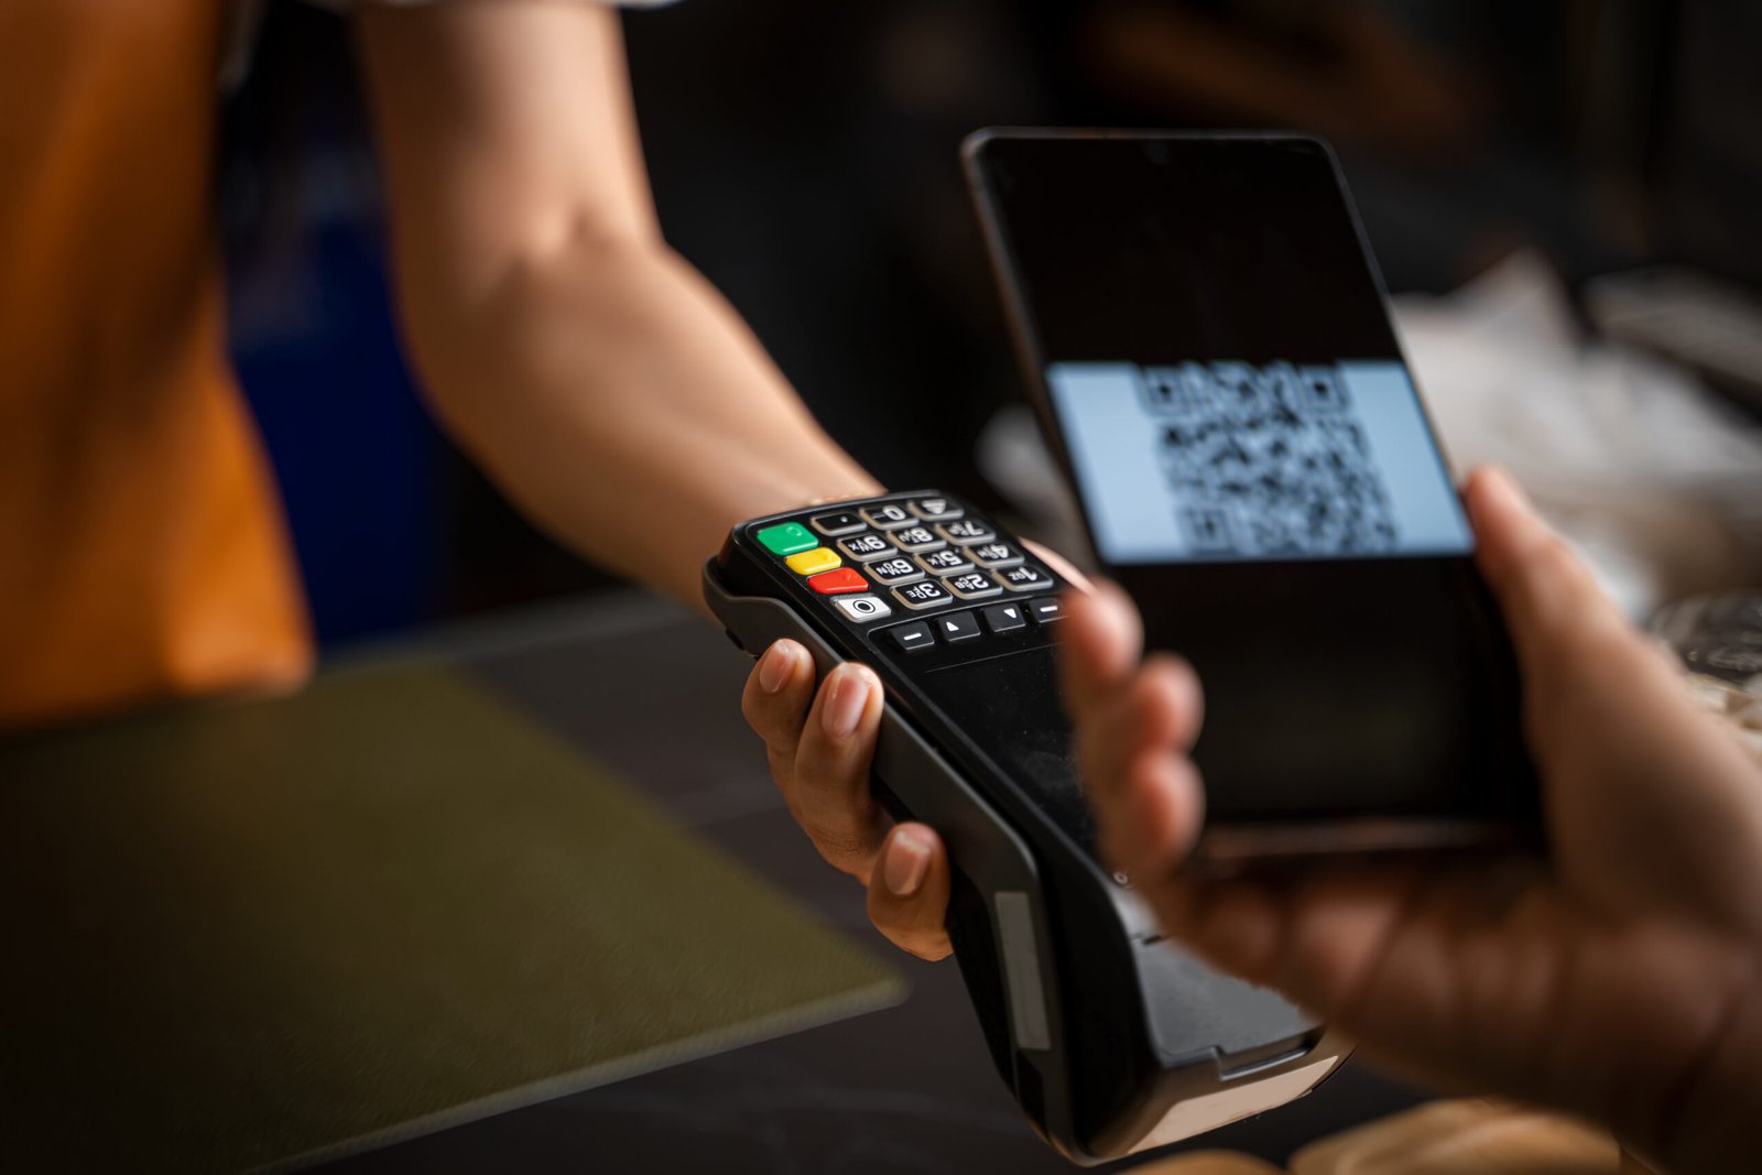
[[[224,351],[226,18],[0,2],[0,728],[310,664]]]

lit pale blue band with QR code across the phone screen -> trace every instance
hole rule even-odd
[[[1471,550],[1397,359],[1055,363],[1047,389],[1108,564]]]

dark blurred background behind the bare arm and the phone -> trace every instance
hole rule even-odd
[[[1392,291],[1515,247],[1577,289],[1762,285],[1743,0],[687,0],[626,18],[668,240],[888,484],[994,499],[1018,375],[957,164],[987,123],[1293,127],[1339,148]],[[604,574],[428,423],[400,358],[345,21],[270,5],[226,107],[233,352],[326,645]]]

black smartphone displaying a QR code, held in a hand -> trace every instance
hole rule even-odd
[[[1327,143],[964,157],[1096,564],[1205,687],[1196,856],[1533,840],[1510,643]]]

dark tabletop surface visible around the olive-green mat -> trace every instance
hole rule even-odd
[[[344,661],[442,657],[673,821],[907,978],[893,1008],[557,1097],[322,1166],[386,1171],[1068,1171],[990,1066],[953,962],[893,953],[856,883],[789,819],[740,719],[749,661],[705,620],[606,595]],[[680,736],[689,731],[689,736]],[[636,995],[633,995],[636,997]],[[1353,1059],[1314,1094],[1186,1149],[1279,1163],[1295,1149],[1422,1099]],[[1119,1166],[1131,1166],[1131,1161]]]

